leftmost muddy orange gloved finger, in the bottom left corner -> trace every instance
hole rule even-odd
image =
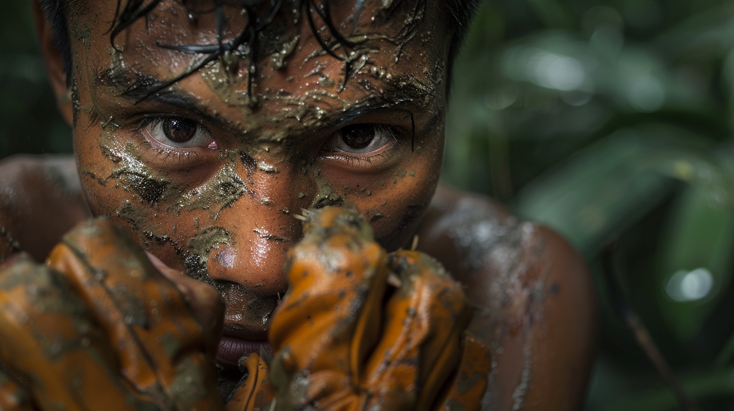
[[[41,410],[134,411],[163,406],[117,374],[115,356],[68,280],[28,255],[0,271],[0,361],[28,382]],[[23,402],[12,382],[5,402]],[[14,396],[13,394],[21,394]]]

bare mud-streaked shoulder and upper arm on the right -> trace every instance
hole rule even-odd
[[[421,251],[466,286],[470,331],[495,354],[490,410],[577,410],[595,352],[595,300],[581,255],[488,197],[440,186]],[[542,404],[541,402],[542,401]]]

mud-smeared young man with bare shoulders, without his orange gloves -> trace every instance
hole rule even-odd
[[[36,1],[76,164],[4,161],[0,255],[41,261],[77,222],[110,217],[162,271],[201,281],[174,278],[205,296],[195,309],[216,305],[205,283],[221,293],[226,371],[268,349],[302,235],[294,215],[355,208],[382,247],[418,234],[418,250],[465,285],[469,330],[493,351],[484,407],[579,409],[595,323],[581,258],[492,200],[437,184],[471,3]]]

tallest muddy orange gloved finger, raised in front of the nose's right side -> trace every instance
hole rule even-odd
[[[307,217],[305,236],[286,263],[288,293],[269,330],[269,341],[279,351],[272,374],[284,376],[273,379],[279,404],[305,404],[356,386],[382,317],[379,302],[388,270],[369,225],[344,208],[322,208]],[[364,310],[365,305],[377,309]],[[283,386],[295,371],[308,374],[308,395],[294,391],[303,388]],[[300,397],[284,398],[290,394]]]

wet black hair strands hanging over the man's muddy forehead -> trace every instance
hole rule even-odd
[[[123,5],[123,0],[118,0],[110,36],[114,44],[117,35],[142,18],[145,18],[146,32],[150,32],[149,23],[153,22],[155,24],[161,13],[170,14],[169,18],[172,20],[168,23],[161,20],[159,23],[164,23],[165,26],[181,27],[185,26],[186,23],[189,23],[189,26],[196,25],[198,18],[201,16],[214,14],[216,15],[215,27],[205,31],[216,32],[215,41],[210,39],[208,42],[205,41],[204,44],[201,44],[200,41],[193,41],[192,44],[188,44],[186,41],[174,41],[168,44],[166,41],[156,40],[156,46],[160,48],[178,51],[181,54],[195,56],[195,58],[192,59],[186,70],[177,73],[170,79],[146,84],[145,89],[150,91],[147,93],[138,92],[137,94],[140,95],[138,101],[147,98],[153,92],[158,92],[181,79],[185,79],[197,71],[203,70],[210,66],[212,62],[219,62],[224,70],[217,70],[216,73],[225,75],[217,79],[219,84],[222,84],[222,79],[228,79],[229,81],[224,83],[226,84],[225,88],[229,89],[233,88],[233,84],[237,82],[233,79],[244,79],[247,90],[246,92],[237,90],[234,98],[225,98],[224,100],[228,103],[238,101],[247,104],[250,108],[255,108],[261,102],[260,95],[253,92],[253,85],[257,81],[258,71],[261,70],[258,67],[260,60],[272,57],[273,62],[275,62],[276,59],[280,59],[279,68],[283,68],[285,57],[282,54],[286,49],[289,50],[287,54],[292,53],[295,44],[299,41],[299,30],[304,29],[305,23],[302,23],[302,21],[308,21],[313,38],[318,41],[323,54],[329,54],[342,62],[344,76],[341,89],[344,90],[344,86],[349,78],[353,76],[355,68],[364,67],[365,59],[363,57],[379,50],[379,48],[369,50],[369,47],[364,47],[364,43],[377,38],[392,43],[394,46],[393,57],[395,62],[398,62],[404,46],[410,40],[413,40],[418,23],[421,23],[426,15],[426,1],[424,0],[417,0],[414,3],[382,0],[367,5],[365,1],[356,1],[352,4],[351,10],[347,8],[348,15],[341,17],[343,19],[342,23],[335,24],[330,4],[330,1],[276,0],[275,2],[271,1],[269,6],[266,6],[264,1],[253,3],[243,0],[239,7],[231,7],[231,10],[239,10],[240,12],[225,13],[225,5],[217,1],[211,1],[212,7],[200,8],[200,10],[206,11],[192,12],[192,8],[189,7],[189,4],[186,4],[186,1],[152,0],[146,4],[142,0],[128,0]],[[373,10],[373,15],[365,21],[360,21],[360,15],[369,7]],[[152,17],[150,17],[151,15]],[[181,21],[180,15],[187,15],[188,21],[186,21],[186,18]],[[244,26],[240,25],[241,27],[238,26],[230,32],[230,25],[233,24],[230,17],[235,16],[234,18],[236,18],[236,15],[241,15],[244,18]],[[360,29],[365,29],[368,26],[382,26],[384,23],[391,21],[401,22],[396,33],[385,34],[396,29],[390,27],[386,32],[379,29],[373,34],[355,34],[355,32],[359,32]],[[347,33],[346,29],[350,22],[352,23],[352,30]],[[155,31],[153,30],[153,32]],[[230,33],[225,35],[225,32]]]

